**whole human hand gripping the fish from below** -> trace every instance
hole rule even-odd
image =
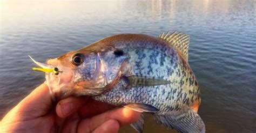
[[[55,108],[47,85],[42,84],[4,116],[0,131],[118,132],[140,115],[126,108],[112,108],[89,97],[69,97],[59,101]]]

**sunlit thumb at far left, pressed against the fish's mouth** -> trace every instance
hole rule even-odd
[[[42,84],[15,106],[6,116],[16,116],[19,121],[31,120],[49,112],[52,106],[48,86]]]

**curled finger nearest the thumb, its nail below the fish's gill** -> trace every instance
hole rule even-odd
[[[58,102],[56,106],[56,113],[59,117],[66,117],[77,112],[89,97],[69,97]]]

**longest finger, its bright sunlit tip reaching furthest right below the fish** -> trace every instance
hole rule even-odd
[[[117,120],[120,126],[122,126],[137,121],[139,119],[139,116],[139,112],[135,112],[127,108],[114,109],[109,112],[93,116],[89,119],[81,120],[78,124],[78,132],[91,132],[104,122],[111,119]]]

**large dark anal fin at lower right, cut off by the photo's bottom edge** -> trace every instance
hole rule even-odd
[[[192,108],[182,112],[173,111],[165,115],[154,115],[154,120],[180,132],[205,132],[203,120]]]

